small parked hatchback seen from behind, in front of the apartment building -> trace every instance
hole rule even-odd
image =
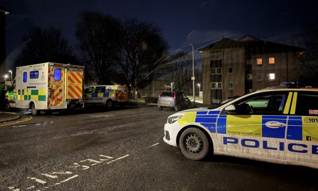
[[[174,108],[176,111],[191,107],[191,101],[182,92],[162,91],[158,97],[158,109],[164,107]]]

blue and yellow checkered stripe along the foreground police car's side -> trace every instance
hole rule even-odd
[[[211,133],[279,139],[285,139],[288,126],[286,139],[318,142],[318,128],[312,128],[317,126],[318,117],[219,114],[220,111],[185,112],[178,123],[180,125],[200,123]],[[270,128],[265,125],[272,121],[285,125],[279,128]]]

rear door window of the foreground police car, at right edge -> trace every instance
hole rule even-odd
[[[318,93],[302,92],[300,94],[299,92],[295,114],[296,116],[318,116]]]

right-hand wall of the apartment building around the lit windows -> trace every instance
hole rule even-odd
[[[262,89],[280,86],[283,81],[300,80],[299,53],[283,52],[271,54],[255,54],[252,56],[252,89]],[[269,64],[269,58],[274,58],[274,64]],[[262,59],[262,65],[257,65],[257,59]],[[263,74],[263,80],[257,80],[257,74]],[[270,80],[269,74],[274,73],[275,79]]]

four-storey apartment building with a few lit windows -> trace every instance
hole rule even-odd
[[[216,105],[235,95],[300,80],[299,56],[305,49],[245,35],[236,41],[222,39],[198,51],[203,58],[203,103]]]

